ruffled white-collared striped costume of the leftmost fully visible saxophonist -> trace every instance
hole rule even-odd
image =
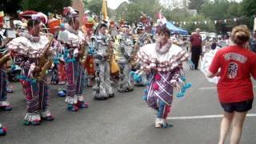
[[[42,119],[54,120],[47,109],[49,97],[46,77],[41,82],[34,78],[34,68],[38,66],[38,60],[48,42],[46,36],[33,37],[24,33],[22,37],[14,38],[7,44],[8,49],[12,51],[14,65],[22,67],[22,75],[19,78],[26,94],[26,125],[38,125]]]

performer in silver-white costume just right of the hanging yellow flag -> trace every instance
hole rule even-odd
[[[133,52],[133,41],[130,38],[130,26],[126,23],[122,26],[122,34],[118,35],[119,47],[116,50],[116,58],[119,66],[118,91],[128,92],[134,90],[130,70],[130,58]]]

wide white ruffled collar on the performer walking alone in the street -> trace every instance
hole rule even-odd
[[[138,58],[141,62],[141,69],[154,69],[160,72],[174,70],[182,62],[189,58],[189,54],[181,47],[171,45],[165,54],[158,54],[155,50],[155,43],[143,46],[138,51]]]

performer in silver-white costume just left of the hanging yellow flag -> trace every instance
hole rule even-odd
[[[110,82],[110,49],[112,44],[110,38],[106,35],[106,24],[102,23],[98,26],[98,34],[91,37],[94,44],[94,59],[96,63],[95,86],[93,89],[94,98],[98,100],[106,100],[113,98],[114,93]]]

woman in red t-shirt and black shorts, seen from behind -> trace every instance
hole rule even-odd
[[[218,50],[210,65],[208,77],[219,76],[218,99],[224,109],[219,144],[223,144],[232,123],[231,144],[238,144],[247,111],[254,99],[250,75],[256,78],[256,54],[248,50],[250,31],[247,26],[235,26],[232,44]]]

